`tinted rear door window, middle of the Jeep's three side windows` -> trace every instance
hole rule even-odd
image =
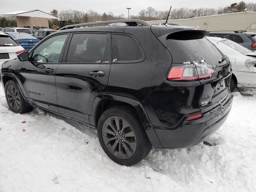
[[[110,62],[107,34],[74,34],[66,62]]]

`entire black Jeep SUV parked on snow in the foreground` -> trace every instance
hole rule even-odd
[[[122,165],[152,146],[195,146],[220,128],[233,99],[230,62],[206,34],[142,20],[65,26],[3,64],[8,106],[96,128],[104,152]]]

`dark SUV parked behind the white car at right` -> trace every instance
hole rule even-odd
[[[256,33],[245,31],[210,31],[206,36],[230,39],[250,50],[256,50]]]

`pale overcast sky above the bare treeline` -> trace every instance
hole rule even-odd
[[[50,12],[53,9],[61,10],[74,9],[86,12],[92,9],[98,13],[112,12],[114,15],[128,14],[127,7],[132,8],[130,14],[136,15],[142,9],[152,6],[157,10],[168,10],[172,8],[218,8],[228,6],[231,3],[240,0],[0,0],[0,14],[16,12],[20,10],[39,9],[44,12]],[[244,2],[256,2],[256,0],[244,0]]]

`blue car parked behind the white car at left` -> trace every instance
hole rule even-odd
[[[34,47],[40,41],[39,39],[27,33],[6,32],[6,34],[13,38],[26,51],[32,49],[32,47]]]

